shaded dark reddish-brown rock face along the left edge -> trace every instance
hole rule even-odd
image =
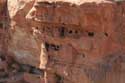
[[[7,10],[6,1],[0,1],[0,52],[2,53],[7,47],[6,43],[6,31],[7,31]]]

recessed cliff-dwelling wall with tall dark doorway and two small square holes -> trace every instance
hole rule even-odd
[[[68,28],[64,26],[44,26],[41,32],[51,37],[60,38],[80,38],[82,36],[82,30],[76,28]]]

